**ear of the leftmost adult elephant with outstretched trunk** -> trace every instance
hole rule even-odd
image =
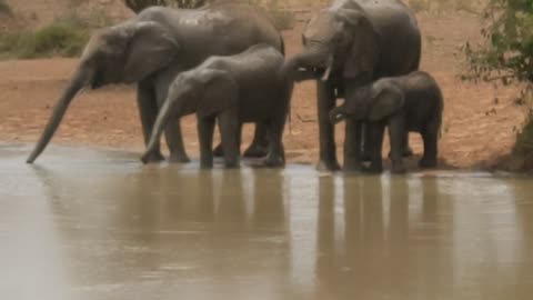
[[[175,59],[180,46],[171,32],[153,21],[128,24],[130,37],[125,49],[123,81],[140,81]]]

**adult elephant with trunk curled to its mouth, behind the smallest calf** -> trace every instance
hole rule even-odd
[[[421,37],[412,11],[398,0],[336,0],[313,16],[303,32],[303,51],[285,62],[294,79],[318,79],[319,169],[335,170],[334,128],[328,113],[336,98],[358,93],[382,77],[418,70]],[[311,76],[310,76],[311,74]],[[344,169],[361,168],[361,123],[346,122]]]

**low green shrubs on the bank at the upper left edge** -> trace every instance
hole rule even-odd
[[[58,20],[37,31],[1,33],[0,57],[77,57],[83,50],[89,37],[89,30],[80,22]]]

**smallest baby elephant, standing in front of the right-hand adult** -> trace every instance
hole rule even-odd
[[[438,138],[442,123],[443,99],[436,81],[426,72],[383,78],[363,87],[356,97],[331,110],[333,123],[345,118],[368,120],[371,149],[370,171],[381,172],[383,131],[389,126],[392,172],[405,172],[402,136],[414,131],[422,136],[424,156],[421,168],[436,167]]]

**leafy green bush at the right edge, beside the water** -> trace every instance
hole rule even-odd
[[[533,0],[490,0],[482,16],[483,43],[466,43],[466,80],[495,81],[525,88],[516,103],[526,109],[526,121],[516,136],[514,151],[533,153]]]

